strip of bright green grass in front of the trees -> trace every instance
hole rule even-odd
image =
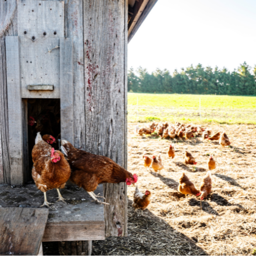
[[[256,123],[256,97],[128,93],[128,121]]]

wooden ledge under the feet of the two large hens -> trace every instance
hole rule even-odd
[[[49,210],[42,241],[104,240],[104,206],[95,203],[77,186],[60,189],[60,193],[68,204],[57,202],[56,209]],[[102,185],[95,190],[96,195],[99,193],[103,195]],[[55,202],[57,197],[56,189],[47,191],[48,202]],[[44,194],[34,184],[14,188],[0,185],[0,205],[3,207],[38,208],[43,202]]]

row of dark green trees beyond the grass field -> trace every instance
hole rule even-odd
[[[128,72],[128,91],[143,93],[179,94],[219,94],[256,95],[256,66],[251,68],[246,62],[237,70],[229,72],[226,68],[197,67],[192,65],[181,72],[157,69],[151,74],[146,69],[131,68]]]

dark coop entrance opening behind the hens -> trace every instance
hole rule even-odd
[[[37,132],[41,136],[46,134],[55,138],[55,143],[51,144],[58,149],[58,139],[60,139],[60,99],[27,99],[28,108],[28,157],[29,169],[33,166],[32,149],[35,145],[35,137]],[[30,175],[29,179],[32,177]]]

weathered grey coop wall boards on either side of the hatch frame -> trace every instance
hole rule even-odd
[[[0,184],[10,183],[6,36],[17,35],[16,0],[0,1]],[[126,167],[127,0],[65,0],[73,39],[74,144]],[[106,236],[127,234],[126,185],[104,187]]]

